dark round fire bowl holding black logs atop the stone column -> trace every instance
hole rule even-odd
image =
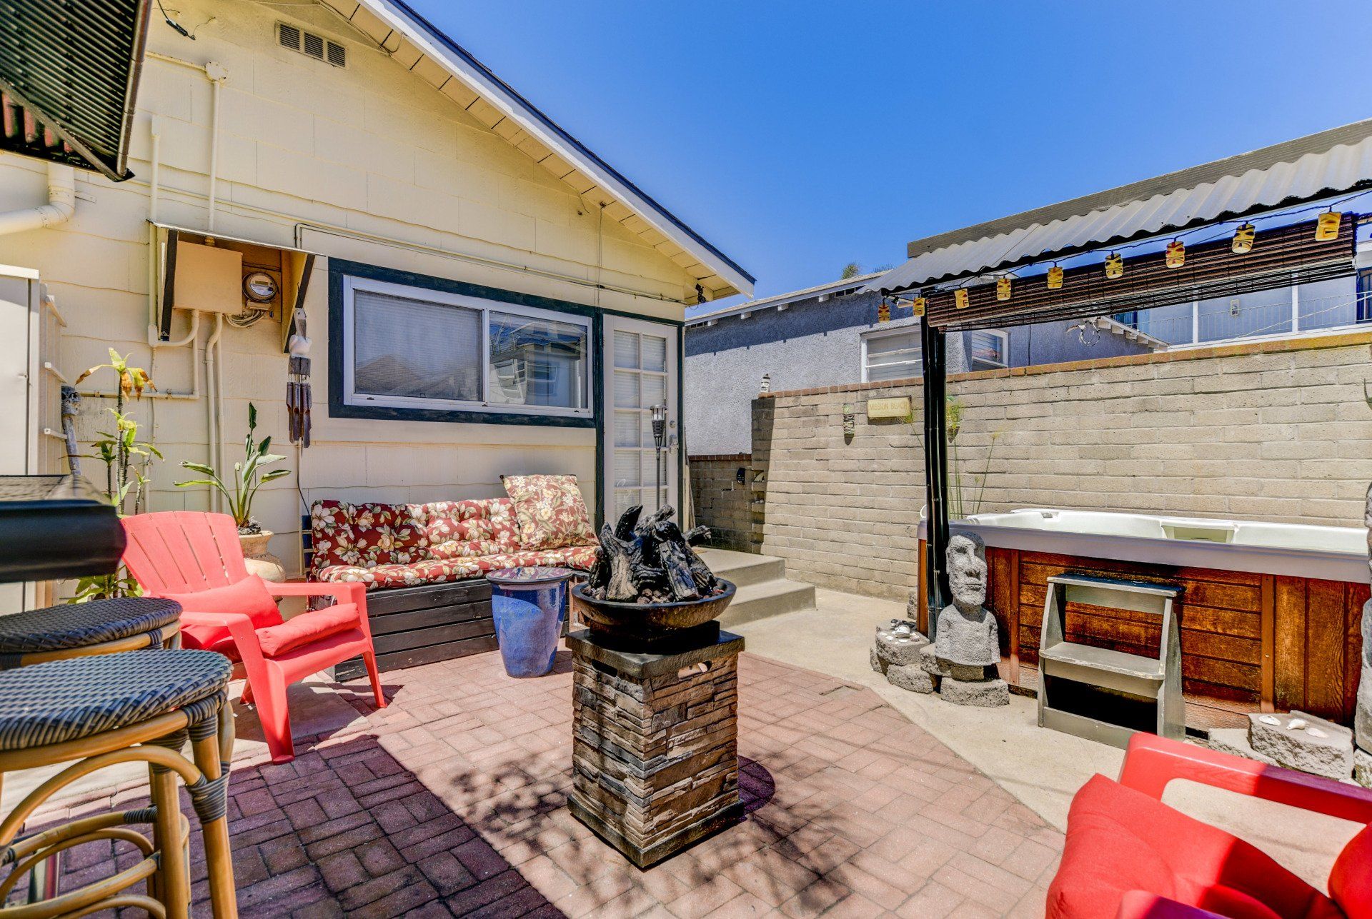
[[[582,619],[606,647],[661,653],[667,647],[708,642],[719,635],[715,620],[734,599],[733,583],[720,579],[724,593],[668,604],[624,604],[587,597],[587,584],[572,587]]]

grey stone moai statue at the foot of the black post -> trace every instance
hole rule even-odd
[[[922,649],[921,667],[937,678],[938,695],[956,705],[1010,704],[1010,687],[995,671],[1000,663],[996,617],[986,609],[986,546],[980,536],[948,540],[952,604],[938,613],[934,643]]]

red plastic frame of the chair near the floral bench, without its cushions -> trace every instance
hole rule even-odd
[[[366,619],[366,590],[358,583],[266,583],[273,597],[333,597],[331,616],[355,606],[355,625],[325,635],[280,653],[265,652],[259,630],[243,613],[196,610],[187,594],[230,587],[248,577],[243,549],[233,517],[200,512],[165,512],[137,514],[123,520],[129,545],[123,564],[129,573],[152,597],[176,595],[181,599],[181,634],[188,647],[207,647],[217,636],[232,638],[230,657],[237,657],[235,676],[247,678],[243,701],[257,701],[258,717],[273,763],[295,759],[291,742],[291,712],[285,687],[310,673],[348,658],[362,656],[377,708],[386,708],[381,679],[376,669],[372,630]],[[313,613],[302,613],[311,616]],[[296,620],[288,620],[295,623]],[[265,631],[265,630],[262,630]]]

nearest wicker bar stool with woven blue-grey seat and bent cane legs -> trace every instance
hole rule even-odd
[[[84,916],[136,907],[184,919],[191,908],[189,822],[177,779],[200,822],[217,919],[237,916],[229,853],[228,776],[232,665],[214,652],[143,650],[49,661],[0,672],[0,780],[7,772],[69,763],[0,820],[0,904],[34,866],[97,839],[132,844],[143,859],[110,878],[23,905],[0,919]],[[181,749],[191,741],[191,759]],[[147,763],[151,807],[99,813],[16,839],[19,827],[63,787],[97,769]],[[152,838],[133,824],[152,824]],[[147,893],[132,890],[145,882]]]

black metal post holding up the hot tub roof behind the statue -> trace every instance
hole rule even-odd
[[[919,324],[925,376],[925,491],[929,501],[929,583],[921,584],[929,601],[929,638],[934,638],[938,610],[947,605],[948,571],[948,438],[947,438],[947,337],[929,322]]]

